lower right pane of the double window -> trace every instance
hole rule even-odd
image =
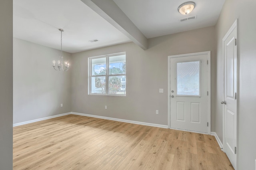
[[[109,76],[108,93],[109,94],[126,94],[126,82],[122,81],[125,76]]]

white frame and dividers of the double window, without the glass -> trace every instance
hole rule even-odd
[[[115,53],[115,54],[108,54],[108,55],[101,55],[101,56],[97,56],[97,57],[89,57],[88,58],[88,95],[107,95],[107,96],[126,96],[126,92],[125,94],[112,94],[112,93],[108,93],[108,79],[110,76],[125,76],[126,79],[126,73],[123,74],[109,74],[108,70],[109,70],[109,57],[113,57],[116,55],[126,55],[126,52],[122,52],[122,53]],[[97,59],[97,58],[106,58],[106,75],[92,75],[92,59]],[[126,58],[125,58],[126,60]],[[105,81],[105,93],[92,93],[92,77],[106,77],[106,81]],[[122,82],[122,81],[121,81]],[[127,79],[125,81],[127,83]],[[125,86],[126,86],[125,83]],[[122,88],[122,86],[121,86]]]

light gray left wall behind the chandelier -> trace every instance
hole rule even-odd
[[[55,71],[60,51],[13,39],[13,123],[71,112],[71,72]],[[71,61],[70,53],[63,53]],[[60,107],[60,104],[63,107]]]

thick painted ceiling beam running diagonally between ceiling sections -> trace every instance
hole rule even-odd
[[[125,36],[130,38],[142,49],[148,49],[148,39],[140,32],[133,22],[124,14],[113,0],[81,0],[112,24]]]

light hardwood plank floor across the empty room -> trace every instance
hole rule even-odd
[[[66,115],[13,129],[14,170],[232,170],[214,136]]]

